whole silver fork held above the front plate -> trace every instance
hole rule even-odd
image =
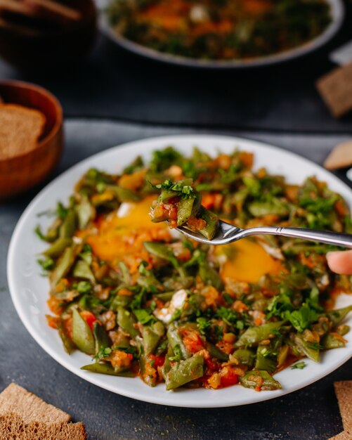
[[[241,238],[250,237],[251,235],[281,235],[282,237],[301,238],[301,240],[322,242],[328,245],[337,245],[352,249],[352,234],[317,231],[315,229],[280,228],[276,226],[240,229],[226,223],[226,221],[219,220],[218,233],[213,240],[208,240],[200,233],[191,231],[185,226],[176,228],[176,231],[180,231],[184,235],[187,235],[187,237],[202,243],[207,243],[208,245],[228,245],[229,243],[240,240]]]

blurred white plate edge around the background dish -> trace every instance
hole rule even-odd
[[[243,67],[259,67],[263,65],[272,65],[276,63],[282,63],[283,61],[292,60],[299,56],[303,56],[306,53],[315,51],[320,48],[327,41],[330,41],[332,37],[337,33],[344,21],[344,4],[341,0],[326,0],[331,7],[332,22],[330,25],[322,32],[318,37],[312,39],[301,46],[298,46],[288,51],[275,53],[270,56],[256,57],[247,60],[198,60],[195,58],[186,58],[182,56],[170,55],[168,53],[162,53],[155,51],[152,48],[142,46],[141,44],[134,43],[133,41],[122,37],[122,35],[117,34],[115,30],[109,24],[106,14],[104,13],[105,8],[110,3],[110,0],[96,0],[98,8],[100,9],[100,30],[105,34],[106,37],[111,39],[118,46],[137,53],[138,55],[152,58],[154,60],[162,61],[164,63],[184,65],[188,67],[204,67],[207,69],[234,69]]]

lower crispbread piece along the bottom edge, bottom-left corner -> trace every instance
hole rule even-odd
[[[0,415],[2,440],[85,440],[83,423],[25,423],[18,415]]]

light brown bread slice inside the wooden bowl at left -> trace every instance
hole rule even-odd
[[[0,159],[33,150],[45,123],[46,118],[39,110],[0,103]]]

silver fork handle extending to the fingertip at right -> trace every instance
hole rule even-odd
[[[304,228],[275,228],[273,226],[262,228],[244,229],[246,236],[249,235],[282,235],[283,237],[301,238],[315,242],[327,243],[352,249],[352,234],[344,234],[331,231],[316,231],[315,229]]]

